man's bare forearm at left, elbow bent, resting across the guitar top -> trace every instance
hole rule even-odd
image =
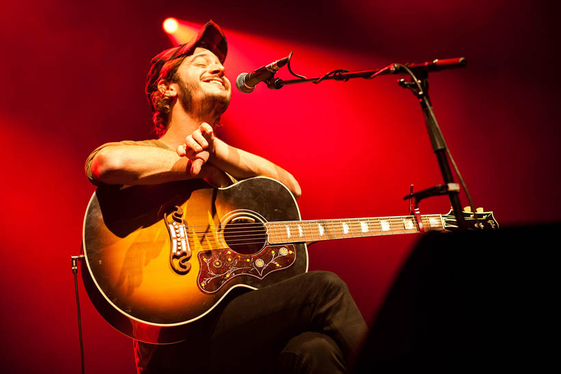
[[[192,178],[205,178],[209,183],[224,187],[229,179],[213,165],[204,165],[192,175],[192,161],[177,152],[148,145],[109,145],[94,155],[91,178],[108,185],[155,185]]]

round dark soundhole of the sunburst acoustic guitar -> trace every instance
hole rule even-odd
[[[252,222],[252,219],[235,219],[224,226],[224,241],[235,252],[254,254],[259,252],[267,241],[265,225]]]

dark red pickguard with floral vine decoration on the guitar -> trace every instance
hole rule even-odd
[[[296,261],[293,244],[268,245],[254,254],[239,254],[229,248],[198,252],[200,270],[197,285],[204,293],[215,293],[236,276],[265,278],[287,269]]]

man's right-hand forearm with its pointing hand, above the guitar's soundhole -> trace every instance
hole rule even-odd
[[[287,186],[295,198],[300,198],[302,194],[300,185],[292,174],[263,157],[222,142],[214,136],[212,127],[207,123],[201,124],[187,136],[185,144],[177,147],[177,154],[193,161],[192,175],[197,175],[203,165],[210,163],[236,179],[268,176]]]

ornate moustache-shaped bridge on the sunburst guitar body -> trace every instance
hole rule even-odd
[[[191,269],[191,248],[187,239],[187,230],[183,224],[183,209],[181,206],[175,206],[174,212],[171,214],[172,219],[168,219],[170,215],[164,215],[164,221],[170,234],[170,265],[179,275],[185,275]]]

